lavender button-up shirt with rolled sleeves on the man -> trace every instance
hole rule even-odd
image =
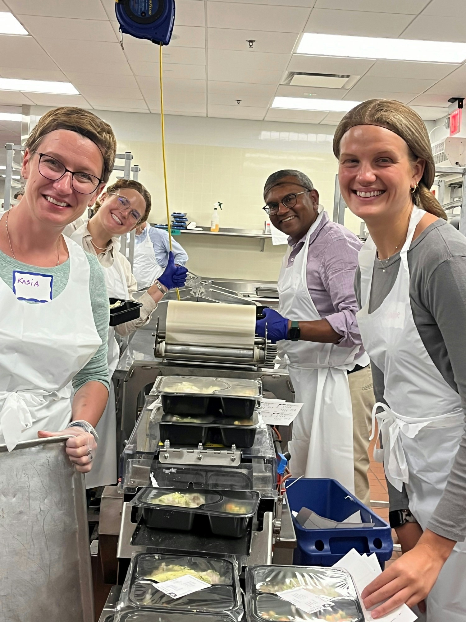
[[[304,246],[303,236],[296,244],[288,238],[292,251],[287,267],[293,266],[296,255]],[[307,284],[309,294],[322,318],[342,335],[343,348],[362,345],[355,314],[359,310],[354,293],[354,274],[362,243],[344,226],[329,220],[326,211],[318,228],[309,239]],[[305,320],[305,318],[303,318]],[[360,349],[360,355],[363,348]]]

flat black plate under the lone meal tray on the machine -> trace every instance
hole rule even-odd
[[[169,529],[152,529],[140,520],[131,538],[133,546],[142,546],[152,552],[160,551],[170,554],[192,555],[241,555],[250,553],[252,525],[249,525],[244,536],[240,538],[224,538],[215,536],[206,529],[205,521],[194,521],[192,531],[180,533]]]

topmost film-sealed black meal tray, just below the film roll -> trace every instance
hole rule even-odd
[[[163,411],[174,415],[252,417],[262,399],[260,380],[208,376],[159,376],[153,389],[162,396]]]

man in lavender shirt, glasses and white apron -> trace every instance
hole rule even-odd
[[[278,279],[278,313],[256,332],[278,342],[296,401],[304,406],[288,443],[291,472],[334,478],[368,504],[368,445],[374,403],[369,358],[355,313],[354,274],[362,244],[319,210],[307,175],[279,170],[265,182],[263,208],[288,234]]]

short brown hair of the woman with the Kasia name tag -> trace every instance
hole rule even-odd
[[[116,156],[116,138],[108,123],[83,108],[61,106],[40,117],[27,137],[25,147],[36,151],[43,137],[56,129],[68,129],[85,136],[99,147],[104,159],[103,181],[109,180]]]

